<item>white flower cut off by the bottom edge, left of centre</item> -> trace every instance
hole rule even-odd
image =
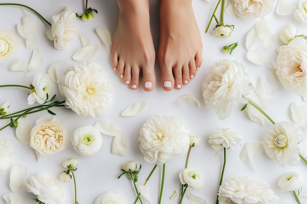
[[[94,204],[127,204],[124,194],[118,190],[109,190],[100,194]]]

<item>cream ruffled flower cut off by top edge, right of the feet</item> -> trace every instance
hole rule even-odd
[[[231,3],[239,18],[261,18],[271,12],[274,0],[231,0]]]

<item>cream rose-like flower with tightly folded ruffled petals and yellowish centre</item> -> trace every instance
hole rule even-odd
[[[66,148],[68,134],[58,117],[40,118],[31,130],[30,146],[41,155],[52,155]]]

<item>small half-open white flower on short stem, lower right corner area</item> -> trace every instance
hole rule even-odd
[[[291,171],[283,174],[278,180],[278,187],[281,188],[282,193],[288,193],[292,191],[298,191],[304,184],[304,177],[297,171]]]

